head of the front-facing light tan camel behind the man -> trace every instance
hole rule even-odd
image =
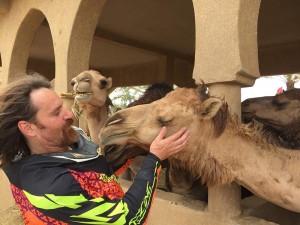
[[[101,107],[108,98],[112,79],[102,76],[95,70],[87,70],[74,77],[71,85],[78,103]]]

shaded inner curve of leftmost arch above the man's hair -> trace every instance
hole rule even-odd
[[[18,74],[26,73],[31,43],[44,19],[45,15],[41,11],[30,9],[20,23],[8,59],[8,82]]]

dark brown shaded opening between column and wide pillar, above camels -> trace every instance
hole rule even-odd
[[[156,81],[194,86],[193,1],[153,3],[107,1],[97,25],[90,65],[109,74],[114,86]]]

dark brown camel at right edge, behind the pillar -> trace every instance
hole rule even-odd
[[[242,102],[242,120],[262,123],[283,146],[299,149],[300,89],[291,89],[275,96],[246,99]]]

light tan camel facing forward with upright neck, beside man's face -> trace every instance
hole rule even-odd
[[[99,144],[99,131],[108,116],[109,91],[112,79],[102,76],[98,71],[83,71],[71,80],[73,86],[75,115],[82,115],[87,120],[91,139]]]

